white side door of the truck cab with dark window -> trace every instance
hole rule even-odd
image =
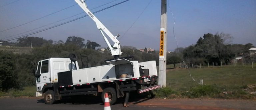
[[[37,91],[43,89],[44,84],[50,83],[50,69],[49,69],[49,60],[40,61],[38,63],[37,74],[40,76],[37,77]]]

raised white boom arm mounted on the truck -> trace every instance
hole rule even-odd
[[[119,35],[114,36],[100,21],[94,16],[94,14],[87,8],[86,3],[83,0],[75,0],[75,2],[85,11],[86,14],[96,23],[97,28],[100,30],[105,42],[110,49],[111,55],[114,56],[114,59],[118,59],[122,54],[120,48],[120,42],[116,39]],[[103,31],[107,34],[107,36],[115,43],[113,47],[110,45],[107,37],[104,35]]]

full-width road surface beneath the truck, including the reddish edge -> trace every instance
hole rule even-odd
[[[131,99],[129,107],[122,107],[123,99],[111,110],[256,110],[255,100],[223,99]],[[0,98],[0,110],[103,110],[100,97],[67,98],[53,105],[41,98]]]

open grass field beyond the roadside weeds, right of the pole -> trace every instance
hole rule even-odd
[[[172,65],[167,65],[171,68]],[[190,77],[191,74],[191,77]],[[221,86],[243,86],[256,84],[256,65],[226,65],[194,69],[168,69],[166,73],[167,86],[174,90],[186,89],[198,85],[200,79],[203,79],[205,85]],[[195,79],[195,81],[192,79]]]

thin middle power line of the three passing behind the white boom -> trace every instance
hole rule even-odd
[[[111,1],[111,2],[105,3],[105,4],[100,5],[100,6],[98,6],[98,7],[92,8],[91,10],[96,9],[96,8],[99,8],[99,7],[102,7],[102,6],[104,6],[104,5],[107,5],[107,4],[109,4],[109,3],[112,3],[112,2],[114,2],[114,1],[117,1],[117,0],[113,0],[113,1]],[[53,23],[50,23],[50,24],[47,24],[47,25],[43,25],[43,26],[40,26],[40,27],[38,27],[38,28],[35,28],[35,29],[32,29],[32,30],[29,30],[29,31],[25,31],[25,32],[22,32],[22,33],[19,33],[19,34],[16,34],[16,35],[24,34],[24,33],[26,33],[26,32],[30,32],[30,31],[33,31],[33,30],[36,30],[36,29],[39,29],[39,28],[42,28],[42,27],[45,27],[45,26],[48,26],[48,25],[51,25],[51,24],[54,24],[54,23],[60,22],[60,21],[63,21],[63,20],[66,20],[66,19],[72,18],[72,17],[77,16],[77,15],[82,14],[82,13],[84,13],[84,12],[81,12],[81,13],[75,14],[75,15],[70,16],[70,17],[68,17],[68,18],[64,18],[64,19],[61,19],[61,20],[55,21],[55,22],[53,22]],[[16,36],[16,35],[8,36],[8,37],[5,37],[5,38],[10,38],[10,37],[13,37],[13,36]],[[5,38],[2,38],[2,39],[5,39]]]

